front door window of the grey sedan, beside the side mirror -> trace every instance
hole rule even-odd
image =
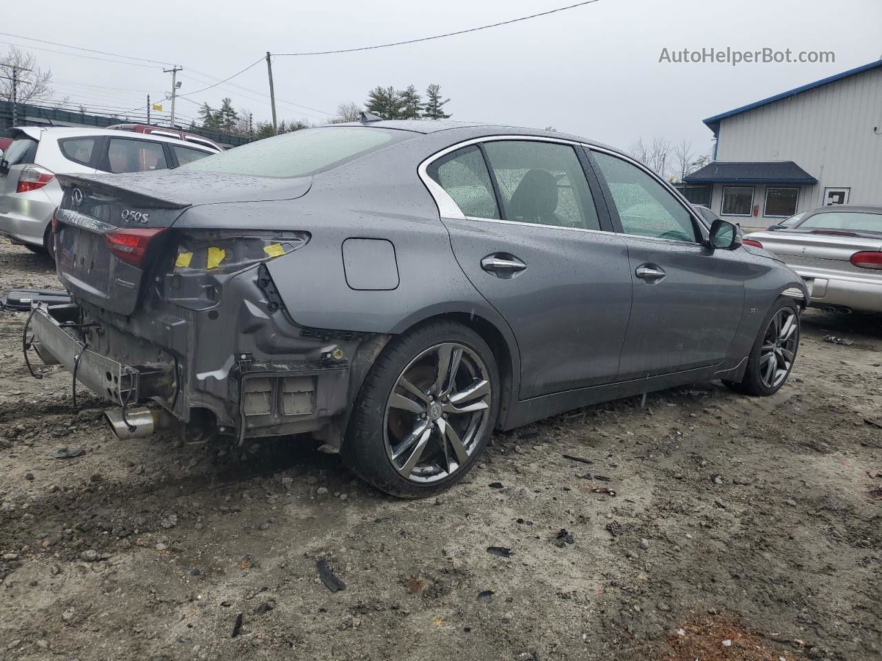
[[[691,214],[654,177],[626,160],[594,152],[624,234],[698,242]]]

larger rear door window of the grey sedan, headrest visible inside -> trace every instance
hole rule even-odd
[[[594,197],[570,145],[530,140],[484,144],[506,220],[600,229]]]

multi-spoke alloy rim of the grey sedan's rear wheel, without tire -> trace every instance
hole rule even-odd
[[[414,482],[445,479],[466,464],[490,424],[490,372],[466,345],[434,345],[411,360],[385,408],[386,456]]]

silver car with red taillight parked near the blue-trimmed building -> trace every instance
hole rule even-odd
[[[818,207],[747,234],[744,242],[789,264],[808,283],[811,306],[882,312],[882,206]]]

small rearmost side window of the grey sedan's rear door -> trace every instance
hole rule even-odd
[[[499,219],[499,207],[481,150],[475,146],[451,152],[427,169],[469,218]]]

